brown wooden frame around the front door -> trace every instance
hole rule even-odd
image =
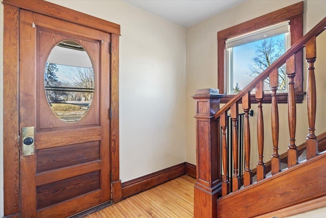
[[[111,34],[110,157],[112,201],[121,200],[119,175],[119,36],[120,25],[43,0],[3,0],[4,4],[4,210],[20,217],[19,199],[19,10],[65,20]],[[58,13],[60,12],[60,13]],[[59,16],[60,15],[60,16]]]

